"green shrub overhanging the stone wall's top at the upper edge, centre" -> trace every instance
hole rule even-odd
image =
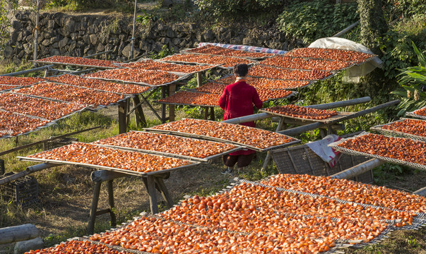
[[[268,11],[283,6],[284,0],[196,0],[201,13],[209,16],[227,16],[243,12]]]

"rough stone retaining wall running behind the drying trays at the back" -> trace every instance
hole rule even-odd
[[[19,12],[13,18],[11,40],[4,49],[4,61],[32,60],[35,13]],[[132,17],[40,13],[37,59],[47,56],[87,56],[113,50],[111,59],[129,59]],[[272,49],[292,49],[276,28],[232,27],[203,28],[194,23],[165,24],[160,21],[136,29],[135,56],[160,52],[164,45],[178,52],[196,42],[247,44]]]

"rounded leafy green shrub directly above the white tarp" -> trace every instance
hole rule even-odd
[[[280,30],[292,38],[313,42],[331,37],[359,19],[357,4],[330,4],[328,0],[292,2],[277,19]]]

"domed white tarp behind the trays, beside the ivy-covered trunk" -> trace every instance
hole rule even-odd
[[[321,49],[347,49],[353,50],[357,52],[364,52],[368,54],[373,54],[373,52],[369,51],[367,47],[362,44],[353,42],[351,40],[346,40],[339,37],[327,37],[321,38],[312,42],[309,47],[317,47]],[[375,68],[381,68],[383,66],[383,62],[379,59],[379,57],[374,57],[372,61],[367,61],[366,63],[360,66],[353,66],[348,68],[343,77],[344,83],[359,83],[360,77],[363,75],[367,75],[372,72]]]

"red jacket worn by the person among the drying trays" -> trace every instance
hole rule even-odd
[[[227,85],[219,98],[219,106],[225,109],[223,120],[253,114],[253,104],[258,109],[263,106],[256,88],[248,85],[244,80],[238,80],[236,83]],[[255,127],[254,121],[240,124]],[[254,153],[253,150],[240,150],[232,152],[230,155],[249,155],[252,153]]]

